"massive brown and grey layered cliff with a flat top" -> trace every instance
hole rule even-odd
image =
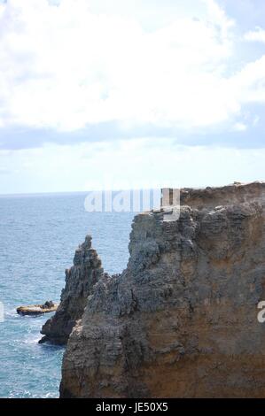
[[[137,215],[126,270],[86,292],[61,397],[265,397],[265,183],[181,202]]]

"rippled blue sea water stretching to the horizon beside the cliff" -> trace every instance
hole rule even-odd
[[[133,213],[85,212],[85,195],[0,197],[0,397],[58,397],[62,347],[38,344],[51,314],[20,317],[20,304],[58,301],[66,267],[86,234],[105,271],[126,266]]]

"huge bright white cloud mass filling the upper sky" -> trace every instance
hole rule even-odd
[[[123,128],[189,130],[233,125],[242,104],[265,102],[265,57],[227,75],[234,22],[214,0],[197,1],[194,15],[188,0],[173,16],[152,2],[141,15],[143,2],[137,2],[141,19],[125,13],[120,0],[121,13],[107,0],[97,2],[8,0],[0,6],[2,126],[76,130],[115,120]],[[158,15],[165,13],[160,25]],[[147,30],[153,14],[155,28]]]

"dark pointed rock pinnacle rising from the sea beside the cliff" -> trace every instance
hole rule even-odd
[[[74,266],[66,270],[66,287],[55,315],[43,325],[39,343],[64,344],[77,320],[80,320],[95,283],[104,274],[97,251],[91,248],[91,236],[75,251]]]

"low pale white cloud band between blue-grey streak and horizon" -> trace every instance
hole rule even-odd
[[[264,149],[188,147],[163,138],[76,146],[46,144],[8,154],[0,150],[0,166],[6,170],[1,175],[0,194],[255,181],[264,179],[264,158]]]

